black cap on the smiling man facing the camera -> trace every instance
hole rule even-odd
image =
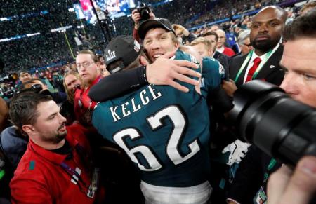
[[[174,31],[171,22],[168,19],[153,18],[140,23],[140,26],[138,27],[138,36],[140,37],[140,39],[143,40],[147,31],[155,27],[161,27],[163,29],[166,29],[167,31],[173,32],[176,35],[176,32]]]

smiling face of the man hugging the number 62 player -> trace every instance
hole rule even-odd
[[[147,31],[143,46],[151,62],[168,52],[178,49],[178,40],[173,35],[172,32],[162,28],[153,28]]]

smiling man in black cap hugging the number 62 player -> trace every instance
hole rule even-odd
[[[166,31],[172,33],[172,35],[163,34],[161,38],[166,39],[166,37],[168,37],[168,40],[164,41],[165,49],[159,50],[159,53],[153,53],[153,55],[150,54],[152,52],[148,53],[148,51],[145,50],[145,53],[150,60],[150,64],[105,77],[103,80],[102,95],[96,96],[98,97],[98,100],[91,95],[93,101],[100,102],[109,100],[112,97],[117,97],[118,95],[121,95],[121,93],[131,90],[131,88],[139,88],[148,83],[173,86],[183,92],[187,92],[188,88],[186,88],[184,84],[181,85],[178,81],[175,81],[175,79],[190,83],[191,85],[199,84],[199,81],[188,77],[201,76],[198,72],[187,68],[192,67],[197,69],[195,63],[187,60],[173,60],[173,56],[178,49],[178,40],[169,20],[164,18],[145,20],[138,30],[140,38],[143,39],[147,29],[152,27],[162,27],[163,30],[166,29]],[[170,43],[169,37],[171,37],[172,43]],[[105,53],[105,58],[111,57],[112,53],[107,52]],[[159,60],[157,60],[157,57],[159,57]],[[113,89],[113,87],[116,88]]]

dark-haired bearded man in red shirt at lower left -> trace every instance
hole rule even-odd
[[[28,135],[29,144],[11,180],[12,203],[102,202],[85,130],[78,124],[66,128],[59,110],[48,95],[13,97],[11,121]]]

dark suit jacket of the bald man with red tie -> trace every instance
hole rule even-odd
[[[284,71],[279,66],[279,61],[281,61],[282,54],[283,46],[279,45],[279,48],[277,48],[277,50],[275,50],[275,53],[273,53],[273,55],[270,56],[269,60],[265,62],[255,79],[263,79],[264,81],[268,81],[279,86],[282,83],[284,77]],[[230,62],[229,67],[230,79],[235,80],[235,77],[237,76],[240,67],[242,67],[242,63],[244,63],[244,60],[246,60],[246,57],[247,55],[239,55],[232,58],[232,62]],[[248,66],[248,63],[246,64],[246,67]],[[242,86],[244,82],[246,67],[236,81],[237,87]]]

